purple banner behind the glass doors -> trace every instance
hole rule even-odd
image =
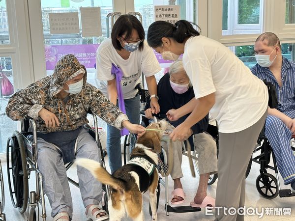
[[[89,45],[46,45],[45,61],[46,70],[54,70],[55,65],[63,55],[75,55],[81,64],[86,68],[94,68],[96,50],[99,44]],[[154,51],[159,63],[172,63],[171,60],[164,60],[162,55]]]

